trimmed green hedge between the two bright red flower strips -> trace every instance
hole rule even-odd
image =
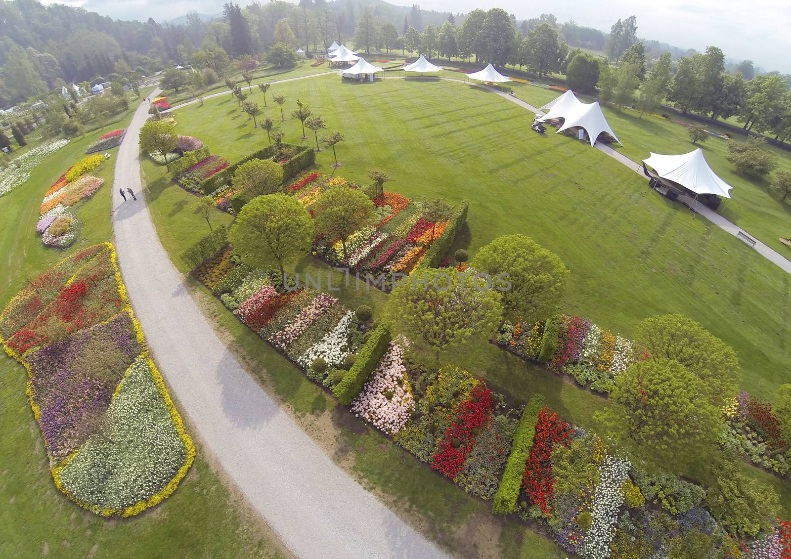
[[[528,455],[533,447],[533,437],[536,435],[536,422],[539,421],[539,412],[543,408],[543,396],[536,394],[524,406],[522,417],[517,425],[517,433],[513,436],[511,454],[505,463],[505,471],[500,480],[497,493],[494,493],[492,512],[507,515],[517,506],[517,499],[522,489],[522,476],[524,465],[528,463]]]

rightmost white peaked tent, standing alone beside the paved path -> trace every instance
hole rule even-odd
[[[728,191],[732,186],[718,177],[706,163],[703,150],[698,148],[682,155],[662,155],[651,152],[651,157],[644,159],[663,179],[672,180],[688,188],[695,194],[713,194],[730,198]]]

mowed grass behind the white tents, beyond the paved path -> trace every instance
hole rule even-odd
[[[514,90],[520,99],[536,107],[560,95],[553,89],[532,85],[515,87]],[[586,99],[587,101],[589,100]],[[675,113],[670,119],[664,119],[660,115],[649,114],[642,115],[641,118],[637,111],[627,108],[619,111],[607,105],[603,105],[603,110],[612,130],[623,142],[623,145],[611,144],[611,147],[633,161],[642,161],[649,157],[652,151],[675,155],[689,153],[698,147],[702,148],[706,161],[713,171],[733,187],[730,192],[731,199],[724,200],[717,211],[786,258],[791,258],[791,248],[779,240],[781,236],[791,236],[791,203],[789,203],[791,200],[780,202],[779,197],[770,191],[771,175],[766,179],[754,179],[735,172],[733,165],[726,159],[728,140],[711,137],[702,144],[693,144],[687,134],[687,128],[674,120],[689,123],[694,121]],[[731,130],[714,123],[706,123],[704,127],[720,134],[726,132],[732,134]],[[740,134],[733,134],[733,137],[738,141],[745,139]],[[766,149],[778,158],[778,168],[775,172],[779,170],[791,172],[791,153],[768,144]]]

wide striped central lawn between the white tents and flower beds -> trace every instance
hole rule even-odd
[[[300,141],[300,123],[288,117],[297,100],[323,115],[329,130],[346,135],[337,145],[343,167],[331,168],[332,153],[323,151],[316,160],[320,172],[367,184],[368,170],[380,168],[394,178],[388,189],[411,198],[467,198],[469,229],[458,244],[473,254],[513,232],[556,252],[571,271],[565,312],[627,336],[646,316],[681,312],[736,349],[747,390],[770,397],[789,380],[791,278],[656,195],[598,150],[562,135],[534,133],[529,111],[455,82],[350,84],[327,76],[274,85],[264,115],[277,121],[272,94],[287,99],[286,122],[280,124],[286,142]],[[252,100],[263,98],[254,92]],[[180,134],[201,138],[229,161],[267,144],[266,133],[253,128],[231,96],[180,109],[176,119]],[[309,130],[304,142],[315,145]],[[189,196],[167,186],[164,177],[159,184],[154,198]],[[173,212],[172,204],[163,207],[163,215]],[[207,231],[202,228],[168,227],[168,235],[186,242]]]

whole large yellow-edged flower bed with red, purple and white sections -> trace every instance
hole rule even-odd
[[[55,485],[102,516],[168,497],[195,456],[101,244],[47,270],[0,313],[0,341],[28,372]]]

